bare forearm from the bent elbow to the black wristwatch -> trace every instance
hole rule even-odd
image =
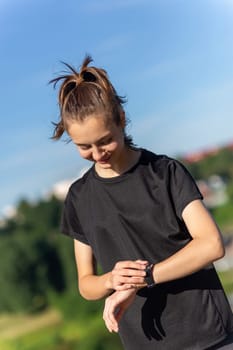
[[[219,238],[220,239],[220,238]],[[156,283],[168,282],[190,275],[224,255],[222,243],[195,238],[183,249],[155,264]]]

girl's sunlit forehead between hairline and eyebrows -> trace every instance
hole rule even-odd
[[[70,122],[67,132],[74,143],[92,144],[111,134],[116,127],[103,116],[91,115],[83,121]]]

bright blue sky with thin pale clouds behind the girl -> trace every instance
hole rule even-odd
[[[48,85],[86,53],[126,95],[135,142],[170,156],[233,140],[232,0],[0,0],[0,214],[87,166],[50,140]]]

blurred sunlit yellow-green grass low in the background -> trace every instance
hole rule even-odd
[[[233,293],[233,269],[219,272],[227,294]],[[77,315],[68,317],[67,304],[73,300],[59,300],[59,310],[47,310],[38,315],[0,316],[0,349],[3,350],[121,350],[117,335],[110,334],[104,326],[102,315],[91,309],[86,314],[79,309]],[[61,305],[62,304],[62,305]],[[83,303],[81,304],[83,306]],[[80,307],[81,307],[80,305]],[[84,304],[85,305],[85,304]],[[87,305],[90,305],[89,303]],[[64,310],[62,310],[64,307]],[[64,314],[63,314],[64,312]],[[90,336],[91,335],[91,336]]]

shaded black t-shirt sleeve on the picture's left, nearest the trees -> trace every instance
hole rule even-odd
[[[89,244],[81,227],[78,218],[77,203],[71,191],[68,192],[65,199],[60,226],[61,232],[65,235],[77,239],[82,243]]]

